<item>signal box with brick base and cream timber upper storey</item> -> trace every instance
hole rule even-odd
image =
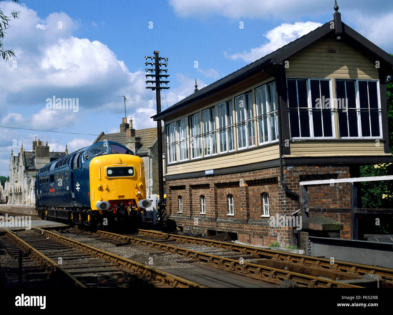
[[[353,186],[343,181],[359,177],[360,165],[392,161],[393,57],[334,9],[331,21],[152,117],[165,122],[169,222],[304,248],[316,224],[299,231],[271,218],[323,217],[340,227],[329,235],[351,238]],[[337,184],[310,186],[305,199],[300,183],[321,179]]]

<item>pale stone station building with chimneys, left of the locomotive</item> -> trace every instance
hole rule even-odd
[[[37,171],[47,163],[68,154],[65,152],[50,152],[48,141],[44,142],[34,137],[32,151],[25,151],[22,146],[14,156],[11,149],[9,160],[9,181],[4,185],[4,202],[7,204],[35,204],[34,185]]]

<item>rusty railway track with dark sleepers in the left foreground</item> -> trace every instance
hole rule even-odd
[[[24,252],[24,273],[31,286],[204,287],[44,229],[4,230],[0,241],[9,254],[16,257]]]

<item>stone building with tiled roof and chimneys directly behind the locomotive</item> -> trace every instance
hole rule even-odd
[[[157,128],[135,130],[132,128],[132,119],[127,123],[127,118],[123,118],[120,124],[120,132],[114,134],[101,132],[93,143],[104,140],[121,143],[134,152],[135,155],[141,157],[145,165],[146,196],[159,193]]]

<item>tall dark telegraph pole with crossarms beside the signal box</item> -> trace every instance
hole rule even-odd
[[[161,80],[162,77],[167,79],[169,75],[167,75],[167,69],[160,69],[160,66],[165,66],[165,68],[168,66],[168,58],[162,58],[159,57],[160,51],[154,51],[154,57],[147,57],[145,56],[145,59],[147,60],[148,58],[153,60],[154,62],[145,62],[145,66],[151,65],[155,66],[154,69],[148,69],[146,68],[146,72],[150,71],[151,73],[155,74],[147,74],[146,78],[151,77],[154,80],[147,80],[146,84],[152,83],[155,84],[155,86],[147,86],[147,89],[151,89],[152,91],[156,90],[156,103],[157,103],[157,114],[161,112],[161,90],[162,89],[169,89],[169,86],[161,86],[161,84],[167,85],[169,81],[163,81]],[[164,60],[165,63],[160,62],[161,60]],[[162,72],[165,72],[165,74],[161,74]],[[160,195],[160,203],[158,204],[158,213],[160,215],[160,218],[162,222],[166,221],[166,211],[165,211],[165,204],[164,204],[164,181],[163,181],[163,166],[162,166],[162,126],[161,126],[161,119],[157,121],[157,141],[158,141],[158,191]]]

